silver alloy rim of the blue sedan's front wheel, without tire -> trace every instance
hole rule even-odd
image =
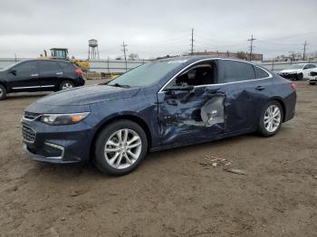
[[[107,163],[116,169],[124,169],[133,165],[139,158],[142,141],[134,130],[125,128],[114,132],[104,147]]]

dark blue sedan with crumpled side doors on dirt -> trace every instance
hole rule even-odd
[[[24,149],[51,163],[93,160],[125,175],[148,151],[259,132],[274,136],[296,91],[258,65],[210,57],[149,62],[108,84],[53,93],[25,109]]]

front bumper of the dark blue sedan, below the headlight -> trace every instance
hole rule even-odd
[[[84,121],[66,126],[50,126],[27,119],[21,123],[23,129],[33,131],[32,136],[24,134],[24,151],[29,158],[54,164],[89,160],[93,128]]]

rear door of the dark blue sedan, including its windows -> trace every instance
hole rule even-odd
[[[218,62],[218,81],[226,90],[225,133],[254,130],[264,104],[272,96],[269,74],[248,63]]]

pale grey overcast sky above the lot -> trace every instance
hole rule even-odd
[[[121,56],[121,45],[140,58],[195,50],[248,51],[264,58],[290,51],[317,51],[316,0],[1,0],[0,58],[36,57],[52,47],[87,58],[88,40],[101,58]]]

